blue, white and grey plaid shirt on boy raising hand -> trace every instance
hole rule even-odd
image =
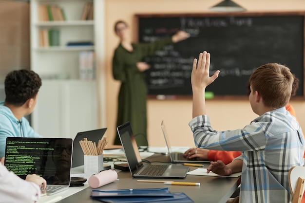
[[[193,118],[189,126],[195,145],[242,151],[240,203],[288,203],[288,171],[303,166],[305,140],[295,117],[285,107],[266,112],[243,129],[215,131],[208,115]]]

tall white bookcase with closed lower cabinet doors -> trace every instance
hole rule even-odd
[[[95,12],[95,5],[99,12]],[[46,137],[72,138],[79,131],[97,129],[98,116],[103,117],[100,115],[103,104],[99,107],[98,103],[103,103],[100,97],[104,87],[103,82],[95,79],[103,57],[99,56],[103,55],[103,48],[95,46],[101,39],[95,36],[103,37],[104,30],[95,18],[103,21],[100,13],[104,0],[30,0],[30,6],[31,69],[42,79],[38,103],[32,113],[33,128]],[[57,18],[42,17],[50,17],[47,7],[57,7],[57,13],[51,12]],[[86,7],[92,11],[89,9],[88,15],[84,15]],[[58,17],[60,12],[62,16]],[[50,37],[50,30],[56,30],[57,36]],[[67,46],[69,42],[89,45]],[[88,77],[81,75],[84,68],[80,55],[84,52],[95,56],[87,59],[91,60],[85,67],[91,73]]]

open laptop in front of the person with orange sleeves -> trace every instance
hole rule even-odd
[[[165,139],[166,147],[169,151],[169,155],[171,158],[172,163],[210,163],[208,160],[190,160],[183,156],[181,152],[172,152],[172,147],[170,145],[170,139],[164,124],[164,121],[161,122],[161,129],[163,132],[163,136]]]

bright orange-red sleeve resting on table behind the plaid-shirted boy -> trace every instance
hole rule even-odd
[[[232,160],[238,156],[240,156],[242,153],[240,151],[216,151],[216,150],[210,150],[208,153],[208,160],[209,161],[217,161],[221,160],[226,165],[231,163]]]

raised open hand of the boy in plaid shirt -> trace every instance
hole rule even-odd
[[[191,72],[191,87],[193,91],[204,91],[218,77],[219,70],[210,77],[210,53],[204,51],[199,54],[198,64],[197,59],[194,59],[193,69]]]

